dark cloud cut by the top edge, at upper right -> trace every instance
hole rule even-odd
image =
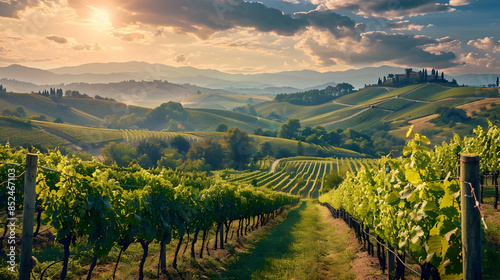
[[[312,3],[325,4],[332,10],[387,19],[454,11],[451,6],[433,0],[312,0]]]

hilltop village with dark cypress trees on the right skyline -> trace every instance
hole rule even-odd
[[[406,68],[404,74],[388,74],[382,79],[378,78],[379,86],[403,87],[411,84],[419,83],[446,83],[450,86],[457,86],[457,81],[453,79],[451,82],[444,78],[444,72],[439,73],[438,70],[432,69],[429,72],[427,69],[413,71],[413,68]]]

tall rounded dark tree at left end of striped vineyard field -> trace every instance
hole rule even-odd
[[[232,167],[241,168],[250,162],[255,153],[253,139],[248,133],[237,127],[232,127],[224,134],[224,144],[227,147],[229,159],[232,160]]]

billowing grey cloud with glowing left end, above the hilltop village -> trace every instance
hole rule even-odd
[[[434,54],[424,50],[426,46],[436,44],[439,44],[437,40],[427,36],[367,32],[361,34],[359,42],[351,38],[326,39],[321,34],[315,34],[296,47],[315,58],[321,66],[380,62],[440,69],[456,66],[453,52]]]

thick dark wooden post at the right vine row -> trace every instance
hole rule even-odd
[[[479,157],[460,155],[462,258],[464,280],[481,279]]]

